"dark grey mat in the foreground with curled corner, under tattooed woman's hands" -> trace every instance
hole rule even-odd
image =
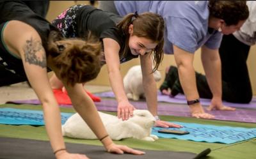
[[[143,149],[142,151],[145,151],[145,155],[116,155],[107,153],[103,146],[66,143],[66,148],[70,153],[85,154],[88,158],[93,159],[156,159],[159,157],[172,159],[198,159],[211,152],[211,149],[205,149],[197,155],[189,152],[154,151]],[[0,137],[0,149],[0,158],[4,159],[55,159],[49,141]]]

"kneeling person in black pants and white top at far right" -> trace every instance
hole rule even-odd
[[[246,1],[250,15],[243,26],[233,34],[223,35],[220,45],[222,99],[233,103],[250,103],[252,86],[247,68],[250,47],[256,43],[256,1]],[[205,75],[196,72],[196,86],[200,98],[212,98]],[[183,93],[177,68],[166,68],[166,77],[160,90],[165,95]]]

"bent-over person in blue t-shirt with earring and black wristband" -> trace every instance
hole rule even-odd
[[[213,118],[200,105],[196,88],[194,53],[202,49],[202,63],[212,92],[211,108],[234,110],[223,105],[221,61],[218,49],[222,34],[239,30],[248,18],[246,1],[100,1],[99,8],[121,16],[151,11],[164,18],[164,53],[174,54],[179,80],[193,117]]]

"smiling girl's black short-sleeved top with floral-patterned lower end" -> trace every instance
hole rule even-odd
[[[138,56],[132,55],[130,51],[126,53],[125,57],[121,57],[125,45],[125,36],[116,27],[116,24],[121,20],[122,17],[114,13],[102,11],[93,6],[76,5],[61,13],[57,19],[52,21],[52,24],[58,27],[66,37],[84,38],[88,31],[91,31],[100,40],[103,38],[115,40],[120,45],[120,63],[124,63]],[[105,63],[104,56],[102,63]]]

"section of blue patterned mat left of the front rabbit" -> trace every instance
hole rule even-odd
[[[72,113],[61,112],[61,123],[64,124]],[[0,109],[0,124],[6,125],[45,125],[41,110],[25,110],[13,108]]]

